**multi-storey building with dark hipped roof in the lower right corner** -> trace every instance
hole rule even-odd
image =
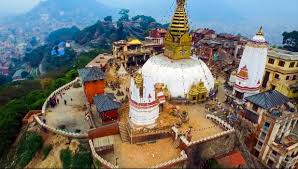
[[[275,90],[246,97],[242,112],[251,134],[250,152],[269,168],[295,168],[298,164],[298,113],[283,94]]]

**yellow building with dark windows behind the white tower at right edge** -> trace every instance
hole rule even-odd
[[[298,52],[270,49],[262,87],[298,99]]]

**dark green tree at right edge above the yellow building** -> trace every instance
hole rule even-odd
[[[284,48],[298,52],[298,31],[284,32],[282,36]]]

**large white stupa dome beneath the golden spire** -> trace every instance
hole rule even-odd
[[[171,97],[186,98],[192,85],[204,82],[208,91],[214,87],[214,78],[207,65],[200,59],[171,60],[163,54],[150,58],[141,69],[144,86],[162,83]]]

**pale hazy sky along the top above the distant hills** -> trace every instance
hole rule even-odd
[[[0,13],[20,13],[29,10],[36,5],[40,0],[0,0]],[[84,0],[82,0],[84,1]],[[98,0],[107,5],[118,8],[133,8],[136,10],[145,10],[150,12],[152,9],[169,10],[169,4],[175,0]],[[264,14],[267,12],[285,12],[291,14],[292,11],[298,11],[298,0],[188,0],[188,3],[197,6],[202,4],[204,8],[210,10],[217,10],[221,6],[205,6],[212,1],[220,4],[225,4],[234,10],[246,10],[254,12],[254,10],[264,9]],[[162,8],[161,8],[162,7]],[[297,14],[297,13],[296,13]]]

